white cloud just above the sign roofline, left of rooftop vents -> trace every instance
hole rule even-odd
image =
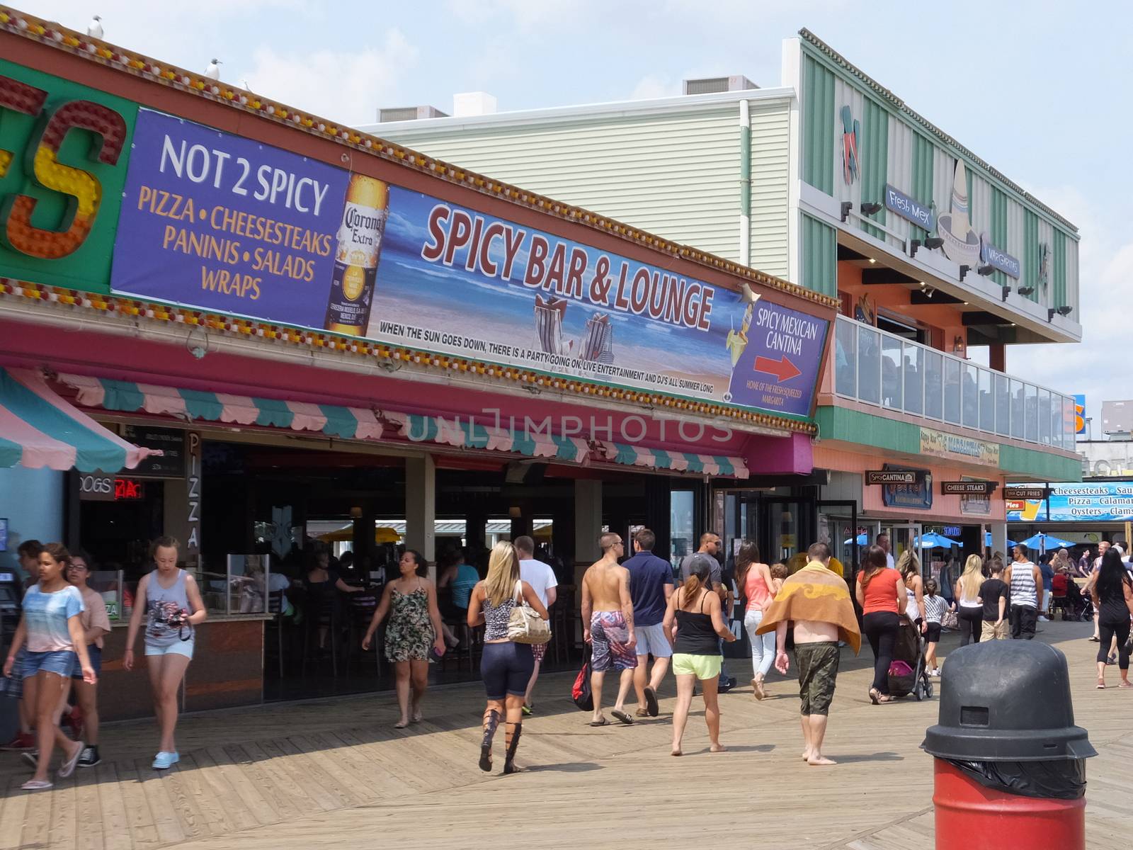
[[[377,119],[378,105],[394,102],[399,84],[417,62],[418,50],[399,29],[376,48],[358,52],[316,50],[276,52],[262,46],[247,71],[257,94],[350,125]]]

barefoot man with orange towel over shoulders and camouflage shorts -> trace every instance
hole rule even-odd
[[[809,563],[789,577],[764,613],[758,634],[775,629],[775,669],[786,673],[786,629],[794,621],[794,657],[799,664],[799,696],[802,699],[803,760],[813,766],[832,765],[823,755],[826,720],[838,674],[838,640],[857,654],[861,632],[850,588],[828,569],[830,547],[815,543],[807,550]]]

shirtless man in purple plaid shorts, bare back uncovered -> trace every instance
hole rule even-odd
[[[590,725],[610,723],[602,714],[602,682],[611,668],[622,671],[617,702],[611,714],[630,725],[633,717],[623,708],[637,669],[630,571],[617,563],[617,556],[624,551],[620,534],[611,532],[602,535],[598,545],[602,547],[602,560],[582,576],[582,639],[593,645],[590,690],[594,691],[594,719]]]

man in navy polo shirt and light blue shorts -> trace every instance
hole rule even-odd
[[[642,528],[633,535],[633,556],[622,564],[630,571],[630,600],[633,602],[633,628],[637,631],[638,666],[633,689],[638,695],[639,717],[657,716],[657,688],[668,671],[673,644],[662,621],[673,593],[673,568],[657,558],[653,547],[657,535]],[[653,671],[646,679],[646,664],[653,655]]]

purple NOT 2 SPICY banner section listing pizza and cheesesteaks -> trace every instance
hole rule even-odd
[[[111,288],[318,326],[350,175],[138,110]]]

